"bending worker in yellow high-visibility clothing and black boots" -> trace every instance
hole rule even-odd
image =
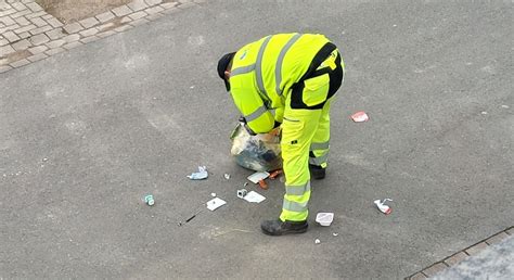
[[[270,35],[218,62],[250,133],[282,124],[285,195],[280,218],[262,221],[266,234],[307,231],[310,178],[325,177],[330,106],[344,68],[335,44],[319,34]]]

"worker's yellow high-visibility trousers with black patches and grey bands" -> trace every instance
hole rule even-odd
[[[306,79],[299,92],[301,97],[296,97],[310,109],[292,107],[293,94],[285,102],[281,140],[285,175],[285,194],[280,215],[282,221],[307,219],[311,192],[309,164],[322,168],[327,165],[330,109],[335,91],[343,82],[344,73],[344,62],[337,50],[320,65],[320,68],[323,67],[330,67],[332,72]]]

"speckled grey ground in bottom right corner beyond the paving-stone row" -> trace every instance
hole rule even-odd
[[[512,279],[514,278],[514,237],[447,268],[434,279]]]

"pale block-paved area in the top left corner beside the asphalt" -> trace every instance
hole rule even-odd
[[[5,2],[3,10],[0,10],[0,46],[3,50],[12,49],[13,51],[0,52],[0,73],[126,31],[134,26],[204,2],[206,1],[133,0],[129,4],[66,25],[43,11],[35,0]],[[63,37],[69,36],[77,38],[73,41],[63,41]],[[35,47],[38,46],[46,46],[44,48],[48,49],[36,49]],[[29,49],[41,50],[41,52],[30,56],[27,55]],[[33,53],[28,52],[28,54]]]

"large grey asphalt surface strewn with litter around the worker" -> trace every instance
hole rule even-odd
[[[209,1],[0,74],[0,278],[402,278],[512,226],[512,13]],[[215,69],[283,31],[325,34],[347,75],[310,204],[335,220],[270,238],[259,222],[283,186],[235,196],[250,173],[229,156],[239,114]],[[370,120],[352,123],[361,110]],[[207,180],[185,177],[197,165]],[[178,227],[211,192],[228,204]]]

